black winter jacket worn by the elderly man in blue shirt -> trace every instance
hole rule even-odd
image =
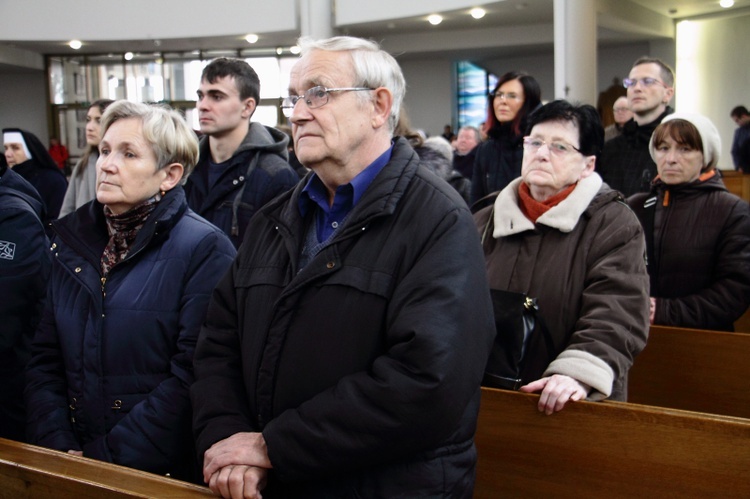
[[[405,139],[302,270],[304,181],[251,221],[196,348],[198,450],[262,431],[264,497],[471,497],[494,339],[466,204]]]

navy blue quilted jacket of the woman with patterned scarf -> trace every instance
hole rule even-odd
[[[104,283],[102,205],[53,225],[47,306],[27,372],[31,442],[193,478],[193,352],[234,247],[188,209],[181,187],[159,202]]]

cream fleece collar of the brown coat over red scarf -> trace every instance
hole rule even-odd
[[[493,209],[492,232],[492,237],[496,239],[535,228],[518,206],[518,186],[522,181],[523,179],[518,177],[497,196]],[[602,178],[596,172],[581,179],[567,198],[537,219],[537,224],[552,227],[560,232],[572,231],[601,187]]]

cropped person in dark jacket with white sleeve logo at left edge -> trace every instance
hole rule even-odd
[[[0,163],[0,437],[24,441],[23,373],[51,259],[39,193]]]

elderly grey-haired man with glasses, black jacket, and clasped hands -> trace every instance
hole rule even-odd
[[[223,497],[471,497],[494,338],[458,193],[392,140],[377,44],[301,39],[282,108],[312,173],[263,207],[218,285],[192,388]]]

